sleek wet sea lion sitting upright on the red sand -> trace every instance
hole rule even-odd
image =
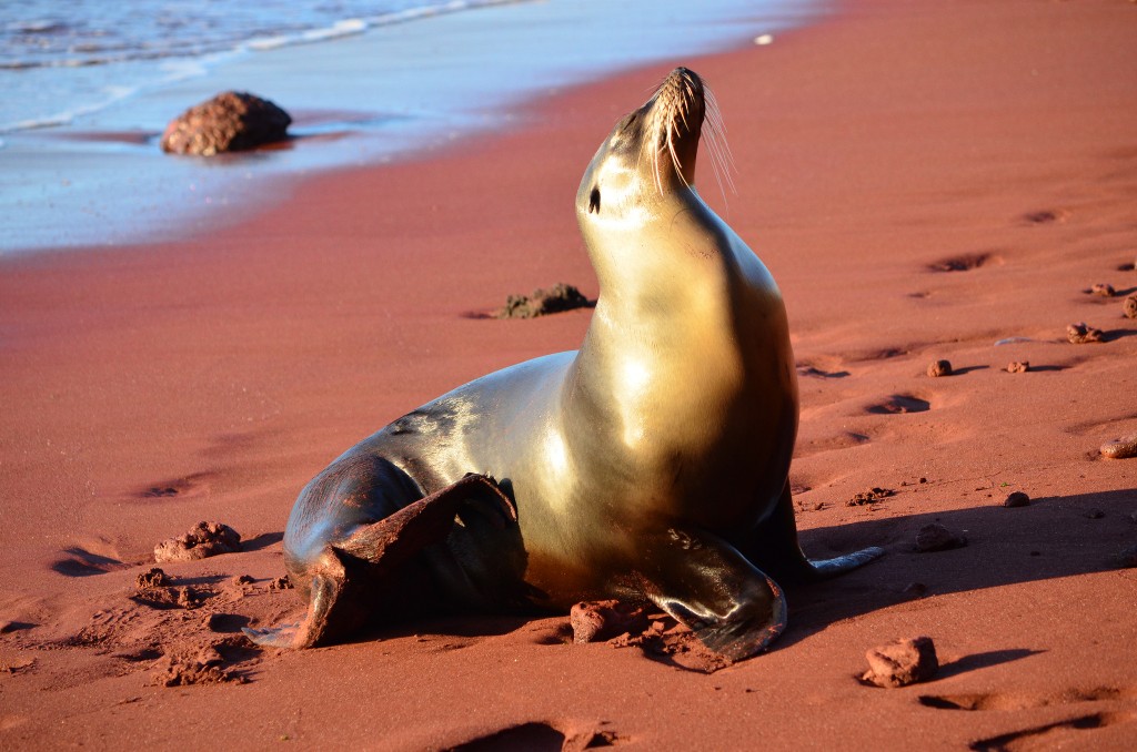
[[[332,462],[284,533],[307,617],[246,634],[305,647],[412,604],[567,612],[615,598],[650,601],[737,660],[786,626],[773,577],[882,553],[811,562],[798,546],[786,309],[695,190],[704,122],[714,132],[713,99],[677,68],[616,124],[576,193],[600,285],[580,350],[460,386]]]

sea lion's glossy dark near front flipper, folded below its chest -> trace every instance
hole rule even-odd
[[[754,655],[786,628],[778,584],[709,533],[645,535],[634,577],[656,605],[730,660]]]

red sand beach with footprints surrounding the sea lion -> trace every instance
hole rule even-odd
[[[313,475],[580,343],[587,310],[470,314],[557,281],[596,294],[573,195],[669,66],[213,234],[0,262],[0,747],[1131,749],[1137,459],[1098,448],[1137,433],[1134,50],[1123,0],[888,0],[674,61],[714,87],[738,167],[729,208],[706,160],[703,193],[789,309],[803,546],[888,552],[791,590],[773,649],[709,675],[565,644],[566,617],[304,652],[239,633],[302,608],[269,583]],[[1078,321],[1104,341],[1068,342]],[[954,375],[928,376],[937,359]],[[872,486],[895,494],[846,505]],[[1004,508],[1013,491],[1030,504]],[[132,600],[155,544],[205,519],[244,551],[163,565],[196,608]],[[966,545],[918,553],[933,521]],[[933,680],[856,680],[916,635]],[[164,686],[210,650],[233,680]]]

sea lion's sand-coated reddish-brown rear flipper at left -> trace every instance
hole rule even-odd
[[[399,576],[399,566],[424,546],[445,541],[455,517],[470,505],[482,516],[498,518],[503,526],[517,519],[492,478],[467,475],[325,545],[305,571],[312,594],[302,621],[242,632],[252,642],[273,647],[314,647],[343,638],[367,620],[376,595],[397,590],[391,580]]]

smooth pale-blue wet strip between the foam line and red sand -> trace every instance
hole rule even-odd
[[[796,0],[792,9],[786,2],[762,0],[745,14],[736,7],[745,0],[697,9],[664,3],[655,8],[664,16],[648,14],[648,0],[619,8],[600,0],[507,2],[458,12],[440,6],[409,23],[202,61],[189,66],[198,75],[0,142],[8,166],[0,175],[0,222],[8,227],[0,254],[168,242],[218,229],[265,206],[266,193],[298,175],[432,158],[455,141],[500,132],[503,123],[523,126],[512,120],[550,92],[684,50],[728,49],[823,12],[819,0]],[[638,27],[637,16],[646,16]],[[283,107],[294,119],[293,139],[210,159],[160,152],[171,118],[226,90]],[[59,225],[58,216],[68,219]]]

